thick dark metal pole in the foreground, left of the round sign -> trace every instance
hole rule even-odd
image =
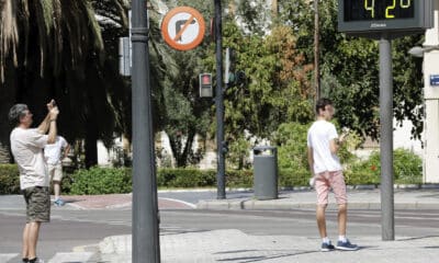
[[[134,263],[160,262],[146,2],[132,3]]]

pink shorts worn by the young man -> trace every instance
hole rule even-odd
[[[348,203],[345,176],[341,170],[318,173],[315,178],[315,188],[317,192],[317,205],[328,204],[328,194],[330,188],[333,188],[338,205]]]

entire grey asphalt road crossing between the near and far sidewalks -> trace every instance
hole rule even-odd
[[[20,253],[23,210],[0,210],[0,254]],[[43,226],[40,255],[52,258],[57,252],[69,252],[78,245],[93,244],[104,237],[131,233],[131,209],[68,210],[54,209],[52,222]],[[201,231],[239,229],[249,235],[288,235],[318,237],[315,211],[297,210],[161,210],[160,231]],[[328,210],[328,232],[336,237],[336,210]],[[381,239],[380,210],[350,210],[348,235],[376,236]],[[439,236],[439,210],[396,210],[397,237]]]

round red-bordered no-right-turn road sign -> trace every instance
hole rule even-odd
[[[161,34],[169,46],[178,50],[189,50],[203,41],[204,19],[199,11],[179,7],[169,11],[161,23]]]

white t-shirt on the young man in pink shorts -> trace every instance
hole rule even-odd
[[[316,121],[308,129],[307,146],[313,148],[315,174],[341,170],[340,160],[329,147],[329,141],[336,138],[336,126],[326,121]]]

